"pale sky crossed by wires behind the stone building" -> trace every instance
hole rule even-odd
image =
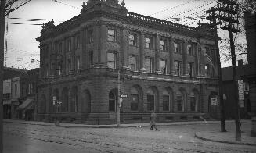
[[[15,8],[26,1],[18,0],[11,7]],[[55,25],[58,25],[64,20],[77,16],[83,2],[87,1],[31,0],[26,5],[10,12],[9,16],[5,17],[4,65],[20,69],[39,67],[39,43],[35,38],[40,36],[41,25],[34,24],[46,23],[53,19]],[[119,4],[121,2],[119,0]],[[211,9],[216,4],[216,0],[124,0],[124,2],[129,12],[182,23],[191,27],[197,27],[199,20],[206,22],[203,19],[206,16],[205,10]],[[32,59],[34,62],[31,62]]]

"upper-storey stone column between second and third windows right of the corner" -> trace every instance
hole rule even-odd
[[[140,65],[140,71],[145,72],[146,69],[144,67],[144,60],[145,60],[145,35],[143,32],[141,32],[139,36],[139,65]]]

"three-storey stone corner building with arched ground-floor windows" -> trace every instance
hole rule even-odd
[[[128,12],[117,0],[88,0],[81,13],[41,30],[37,120],[121,123],[218,117],[214,34]],[[55,80],[56,77],[56,80]],[[53,105],[56,95],[61,104]]]

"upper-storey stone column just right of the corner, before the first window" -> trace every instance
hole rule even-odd
[[[100,41],[100,46],[99,46],[99,59],[100,59],[100,64],[104,67],[107,67],[107,63],[106,63],[106,38],[107,38],[107,28],[106,25],[102,24],[100,25],[100,37],[99,37],[99,41]]]

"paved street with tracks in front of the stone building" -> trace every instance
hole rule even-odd
[[[226,123],[227,130],[234,126]],[[243,129],[247,127],[247,129]],[[248,130],[250,125],[242,125]],[[4,152],[255,152],[256,147],[202,141],[198,131],[218,130],[219,124],[125,128],[65,128],[56,126],[4,124]],[[254,139],[255,140],[255,139]]]

